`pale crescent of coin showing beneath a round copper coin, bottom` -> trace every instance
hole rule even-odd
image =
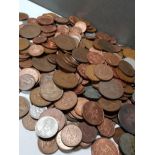
[[[69,150],[72,150],[74,147],[71,147],[71,146],[66,146],[62,140],[61,140],[61,131],[59,131],[59,133],[57,134],[56,136],[56,142],[57,142],[57,145],[58,147],[60,148],[60,150],[63,150],[63,151],[69,151]]]

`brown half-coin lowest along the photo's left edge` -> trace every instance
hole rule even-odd
[[[29,112],[30,106],[28,100],[19,96],[19,118],[25,116]]]

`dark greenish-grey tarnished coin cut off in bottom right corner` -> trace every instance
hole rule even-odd
[[[119,139],[119,146],[124,155],[135,155],[135,137],[124,133]]]

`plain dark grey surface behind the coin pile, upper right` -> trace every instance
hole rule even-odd
[[[98,31],[135,46],[135,0],[30,0],[59,15],[90,20]]]

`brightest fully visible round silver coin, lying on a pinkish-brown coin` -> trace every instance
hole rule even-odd
[[[51,116],[44,116],[36,123],[35,131],[41,138],[53,137],[58,131],[58,122]]]

